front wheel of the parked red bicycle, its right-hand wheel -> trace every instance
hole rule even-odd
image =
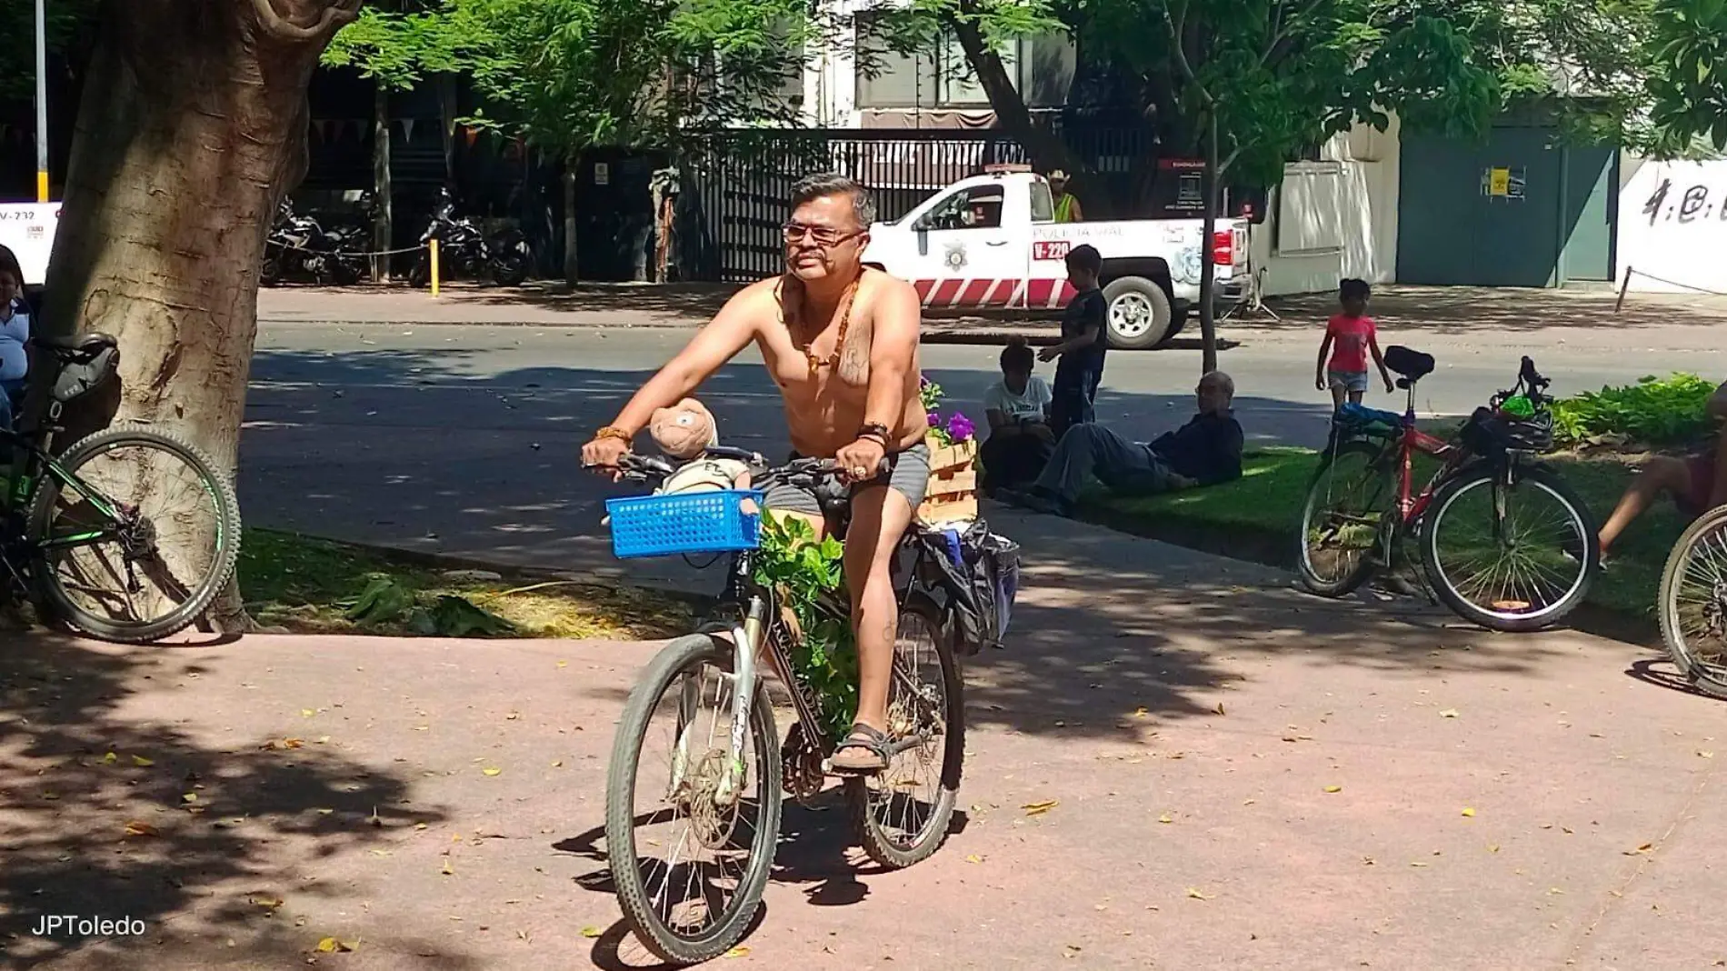
[[[1601,544],[1584,503],[1546,468],[1511,484],[1477,466],[1433,496],[1421,527],[1433,589],[1459,617],[1492,631],[1539,631],[1589,596]]]

